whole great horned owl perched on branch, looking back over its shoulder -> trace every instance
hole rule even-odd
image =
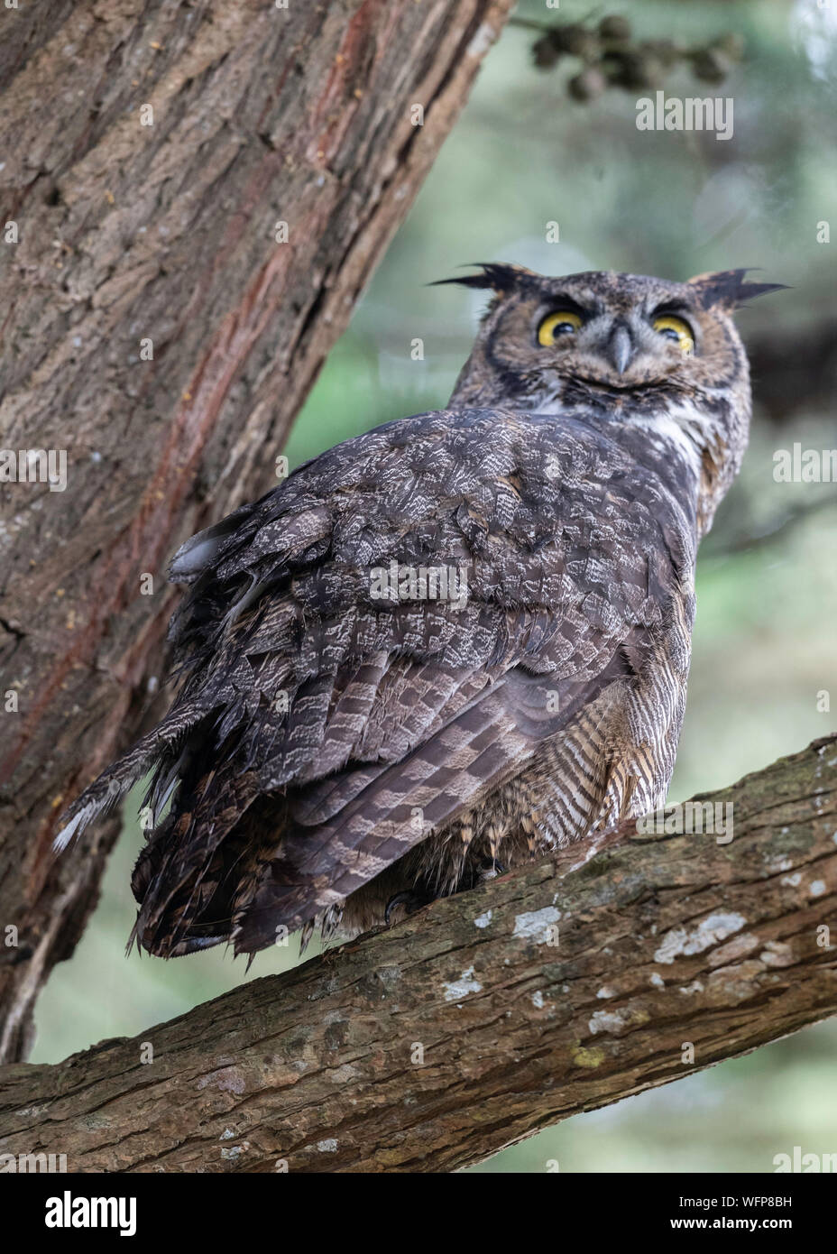
[[[491,265],[447,409],[200,532],[133,877],[152,953],[351,934],[665,799],[700,537],[751,413],[736,307],[776,285]],[[424,573],[422,573],[424,572]]]

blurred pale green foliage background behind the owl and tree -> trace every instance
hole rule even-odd
[[[558,13],[541,0],[517,10],[563,21],[588,11],[576,0],[564,0]],[[720,87],[695,82],[685,68],[665,83],[669,95],[732,97],[733,139],[638,132],[635,100],[644,92],[611,90],[576,104],[566,80],[578,64],[535,70],[533,35],[509,28],[294,426],[292,465],[378,423],[445,404],[482,300],[425,285],[471,261],[670,278],[761,266],[767,280],[793,291],[742,314],[746,340],[769,334],[781,355],[786,332],[822,336],[837,277],[837,240],[817,242],[817,223],[831,219],[837,228],[837,4],[634,0],[600,15],[611,11],[648,38],[744,36],[747,58]],[[560,243],[546,242],[549,222],[559,223]],[[424,361],[411,360],[416,337]],[[757,404],[744,473],[699,562],[689,705],[670,800],[728,784],[833,727],[817,693],[828,691],[837,702],[834,488],[774,483],[773,453],[794,440],[833,446],[833,413],[803,403],[777,426]],[[272,460],[276,451],[266,448],[264,455]],[[822,509],[767,542],[747,542],[816,494],[828,498]],[[128,815],[137,800],[129,799]],[[134,918],[128,880],[139,844],[132,818],[91,925],[40,1001],[35,1061],[134,1035],[297,961],[296,940],[259,954],[247,977],[242,961],[217,951],[168,964],[127,959]],[[829,907],[823,899],[824,920]],[[831,922],[837,924],[833,910]],[[834,1022],[809,1028],[576,1116],[480,1170],[544,1171],[558,1159],[563,1171],[771,1171],[773,1155],[794,1145],[833,1152],[836,1045]]]

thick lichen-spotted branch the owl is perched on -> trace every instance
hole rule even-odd
[[[837,736],[708,800],[732,841],[625,825],[135,1040],[0,1068],[0,1154],[449,1171],[833,1014]]]

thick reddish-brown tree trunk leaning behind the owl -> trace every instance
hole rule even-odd
[[[0,10],[0,445],[69,463],[0,484],[0,1058],[95,902],[117,820],[59,861],[53,825],[148,716],[167,559],[276,483],[510,6]]]

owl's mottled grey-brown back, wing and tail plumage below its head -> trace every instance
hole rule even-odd
[[[645,804],[683,712],[697,498],[677,443],[584,413],[440,411],[328,450],[183,545],[180,692],[63,839],[154,766],[142,944],[252,952],[429,834],[489,831],[492,798],[530,831],[536,785],[551,844]]]

